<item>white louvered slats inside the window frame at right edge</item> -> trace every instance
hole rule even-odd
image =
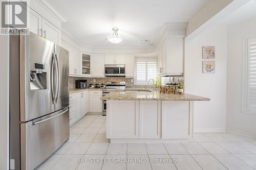
[[[247,59],[246,110],[256,111],[256,37],[248,39]]]

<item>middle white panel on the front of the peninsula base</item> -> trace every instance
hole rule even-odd
[[[161,101],[139,102],[139,138],[161,138]]]

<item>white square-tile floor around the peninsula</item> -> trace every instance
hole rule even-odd
[[[82,118],[71,127],[70,139],[37,169],[256,169],[254,138],[231,133],[196,133],[186,143],[109,143],[105,119],[101,115]],[[135,162],[136,158],[143,162]],[[180,161],[150,161],[159,158]],[[77,159],[83,162],[77,163]],[[118,159],[133,161],[114,162]]]

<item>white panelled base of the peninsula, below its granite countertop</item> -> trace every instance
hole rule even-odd
[[[107,105],[107,138],[189,137],[189,101],[107,101]]]

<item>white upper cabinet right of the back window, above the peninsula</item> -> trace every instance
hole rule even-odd
[[[167,36],[158,48],[158,74],[179,76],[184,73],[184,38]]]

